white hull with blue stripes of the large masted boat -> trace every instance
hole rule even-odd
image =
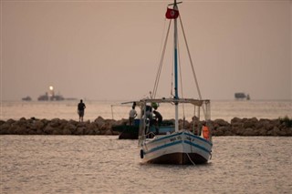
[[[154,138],[142,145],[142,162],[156,164],[203,164],[211,158],[213,144],[209,140],[181,130]]]

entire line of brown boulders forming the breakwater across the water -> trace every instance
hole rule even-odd
[[[168,119],[169,120],[169,119]],[[170,119],[172,121],[172,119]],[[126,125],[128,119],[104,119],[97,117],[94,121],[78,122],[66,119],[38,119],[35,117],[18,120],[0,120],[0,135],[119,135],[112,126]],[[180,119],[180,128],[201,126],[203,121],[184,121]],[[292,137],[291,119],[266,119],[255,117],[234,117],[231,122],[224,119],[211,120],[209,127],[213,136],[273,136]],[[195,130],[194,133],[197,133]]]

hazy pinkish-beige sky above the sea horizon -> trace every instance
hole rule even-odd
[[[148,96],[170,3],[1,0],[1,98],[36,100],[50,85],[64,97]],[[242,91],[292,99],[291,1],[185,0],[179,9],[203,98]],[[189,66],[179,33],[182,66]],[[172,45],[159,97],[171,95]],[[185,97],[196,95],[190,72],[183,70]]]

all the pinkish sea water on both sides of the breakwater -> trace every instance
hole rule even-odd
[[[77,104],[4,101],[1,119],[78,120]],[[119,101],[85,104],[90,121],[130,110]],[[291,101],[214,101],[211,109],[213,119],[227,121],[292,117]],[[118,136],[0,136],[0,193],[292,193],[291,137],[213,140],[207,164],[180,166],[141,163],[138,141]]]

